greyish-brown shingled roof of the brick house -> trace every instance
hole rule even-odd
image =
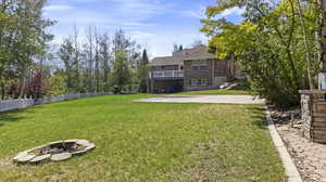
[[[185,49],[173,53],[173,56],[155,57],[151,66],[183,65],[187,60],[216,58],[215,54],[209,53],[205,46],[197,46],[192,49]]]

